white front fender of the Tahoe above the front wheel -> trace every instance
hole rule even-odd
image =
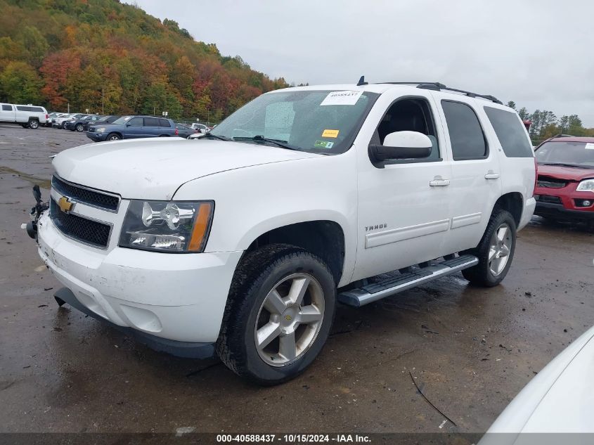
[[[255,165],[184,183],[174,200],[214,200],[205,252],[246,250],[274,228],[328,220],[344,233],[341,285],[356,257],[356,163],[354,150]]]

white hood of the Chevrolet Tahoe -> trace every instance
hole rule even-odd
[[[179,186],[202,176],[318,156],[253,143],[145,138],[70,148],[53,158],[53,167],[67,181],[122,198],[170,200]]]

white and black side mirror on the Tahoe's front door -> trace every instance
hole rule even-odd
[[[422,159],[431,155],[431,139],[418,131],[394,131],[383,145],[370,144],[369,156],[374,164],[387,160]]]

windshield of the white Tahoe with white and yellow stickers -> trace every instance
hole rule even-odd
[[[379,94],[368,91],[281,91],[263,94],[210,131],[254,143],[273,139],[314,153],[344,153]],[[247,139],[247,140],[246,140]]]

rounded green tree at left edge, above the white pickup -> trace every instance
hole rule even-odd
[[[41,79],[25,62],[11,62],[0,75],[1,96],[11,103],[39,103]]]

